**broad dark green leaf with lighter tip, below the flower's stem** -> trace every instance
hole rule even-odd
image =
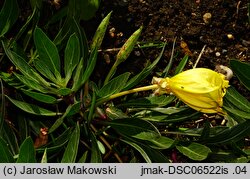
[[[110,125],[117,132],[137,139],[151,141],[160,137],[158,129],[153,124],[145,120],[127,118],[115,119],[105,123]]]

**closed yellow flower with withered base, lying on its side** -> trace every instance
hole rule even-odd
[[[207,68],[194,68],[172,78],[153,78],[155,94],[173,93],[191,108],[203,113],[222,113],[223,96],[229,81]]]

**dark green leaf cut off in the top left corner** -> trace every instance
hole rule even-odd
[[[0,12],[0,37],[9,31],[19,16],[19,7],[16,0],[5,0]]]

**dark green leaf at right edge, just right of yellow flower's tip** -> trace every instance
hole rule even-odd
[[[238,60],[230,60],[230,67],[240,82],[250,90],[250,63],[240,62]]]

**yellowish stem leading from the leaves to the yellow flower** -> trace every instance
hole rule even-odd
[[[127,91],[122,91],[120,93],[113,94],[113,95],[109,96],[108,98],[103,98],[103,99],[98,100],[96,102],[96,106],[99,106],[104,102],[107,102],[107,101],[109,101],[111,99],[115,99],[115,98],[118,98],[118,97],[121,97],[121,96],[124,96],[124,95],[128,95],[128,94],[131,94],[131,93],[137,93],[137,92],[140,92],[140,91],[154,90],[154,89],[157,89],[157,88],[159,88],[159,86],[157,84],[154,84],[154,85],[134,88],[134,89],[127,90]]]

